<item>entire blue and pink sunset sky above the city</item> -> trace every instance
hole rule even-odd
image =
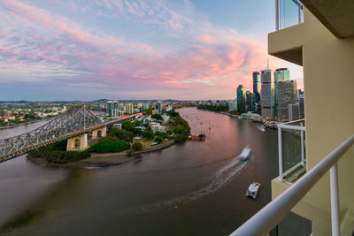
[[[267,54],[269,0],[0,0],[0,101],[234,99]]]

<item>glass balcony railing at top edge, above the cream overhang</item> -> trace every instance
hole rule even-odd
[[[298,0],[275,0],[275,29],[295,26],[303,22],[303,4]]]

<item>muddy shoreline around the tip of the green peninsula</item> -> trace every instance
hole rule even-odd
[[[176,143],[176,141],[174,140],[168,141],[166,143],[162,143],[158,147],[145,148],[140,151],[132,152],[132,156],[127,156],[127,150],[121,152],[112,152],[112,153],[92,153],[91,156],[87,159],[83,159],[77,162],[67,163],[67,164],[49,163],[48,161],[42,158],[32,157],[30,154],[27,154],[27,159],[35,164],[42,164],[44,166],[58,167],[58,168],[100,168],[100,167],[107,167],[112,165],[125,164],[128,162],[138,160],[142,158],[142,156],[138,156],[140,154],[157,151],[164,148],[169,148],[174,143]]]

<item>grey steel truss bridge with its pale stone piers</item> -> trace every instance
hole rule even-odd
[[[133,120],[140,115],[142,113],[135,113],[104,122],[85,105],[73,105],[44,126],[40,126],[28,133],[0,140],[0,163],[57,141],[67,140],[67,150],[75,149],[76,141],[80,141],[80,150],[89,148],[88,133],[92,132],[93,139],[97,138],[99,133],[104,137],[107,126],[113,126],[115,123],[126,120]]]

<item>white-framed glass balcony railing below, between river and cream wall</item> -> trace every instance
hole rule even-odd
[[[304,119],[278,125],[279,181],[294,183],[304,175]]]

